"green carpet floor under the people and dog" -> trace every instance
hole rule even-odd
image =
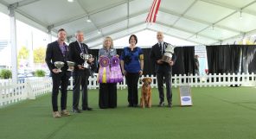
[[[100,110],[98,90],[89,91],[93,111],[53,118],[50,94],[0,109],[0,139],[256,139],[256,89],[192,88],[193,106],[128,108],[127,90],[118,90],[118,108]],[[139,93],[140,96],[140,93]],[[71,110],[72,93],[68,93]]]

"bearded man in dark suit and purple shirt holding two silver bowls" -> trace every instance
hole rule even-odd
[[[58,31],[58,40],[48,44],[46,50],[45,61],[51,72],[53,79],[53,90],[52,90],[52,106],[53,116],[61,117],[69,116],[67,111],[67,85],[70,77],[70,72],[67,72],[67,60],[68,60],[68,47],[64,42],[66,39],[66,31],[61,28]],[[62,72],[58,72],[57,67],[54,66],[55,61],[64,62],[65,65],[61,68]],[[58,94],[61,85],[61,113],[58,111]]]

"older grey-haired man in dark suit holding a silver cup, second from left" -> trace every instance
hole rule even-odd
[[[73,112],[80,113],[80,86],[82,92],[82,110],[92,111],[88,106],[87,85],[90,76],[90,69],[82,66],[85,63],[80,54],[88,54],[88,46],[83,43],[84,34],[81,31],[76,32],[76,41],[69,44],[70,60],[75,62],[74,66],[74,89],[73,89]],[[88,64],[93,64],[93,58],[87,60]]]

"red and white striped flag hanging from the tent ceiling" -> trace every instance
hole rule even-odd
[[[161,0],[154,0],[150,8],[150,12],[147,16],[146,22],[156,22],[157,12],[160,6]]]

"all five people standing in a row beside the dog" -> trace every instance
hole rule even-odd
[[[74,113],[81,111],[92,111],[88,105],[87,85],[90,76],[90,69],[83,66],[86,62],[93,65],[94,58],[83,59],[80,54],[88,54],[88,46],[83,43],[84,34],[81,31],[76,32],[76,41],[71,42],[68,46],[65,43],[67,33],[65,29],[58,30],[58,40],[48,44],[45,61],[51,72],[53,80],[52,90],[52,109],[53,117],[70,116],[67,111],[67,85],[71,73],[67,70],[67,61],[73,61],[74,66],[74,88],[73,88],[73,109]],[[166,84],[166,96],[168,107],[172,106],[171,92],[171,66],[176,61],[176,54],[168,62],[163,62],[162,57],[168,43],[163,41],[163,33],[157,32],[157,44],[151,47],[150,59],[155,62],[155,72],[157,74],[157,87],[159,92],[159,106],[164,105],[163,83]],[[103,47],[99,49],[99,60],[103,57],[112,59],[118,57],[120,60],[121,71],[125,76],[128,86],[128,107],[138,107],[138,79],[144,71],[144,54],[142,48],[137,47],[138,38],[131,35],[129,38],[129,47],[124,47],[121,55],[117,54],[113,47],[113,41],[110,36],[106,36],[103,41]],[[55,61],[64,62],[61,71],[54,66]],[[61,88],[60,88],[61,87]],[[61,111],[58,111],[58,94],[61,90]],[[82,104],[80,109],[80,92]],[[99,83],[99,108],[116,108],[117,107],[117,83]]]

